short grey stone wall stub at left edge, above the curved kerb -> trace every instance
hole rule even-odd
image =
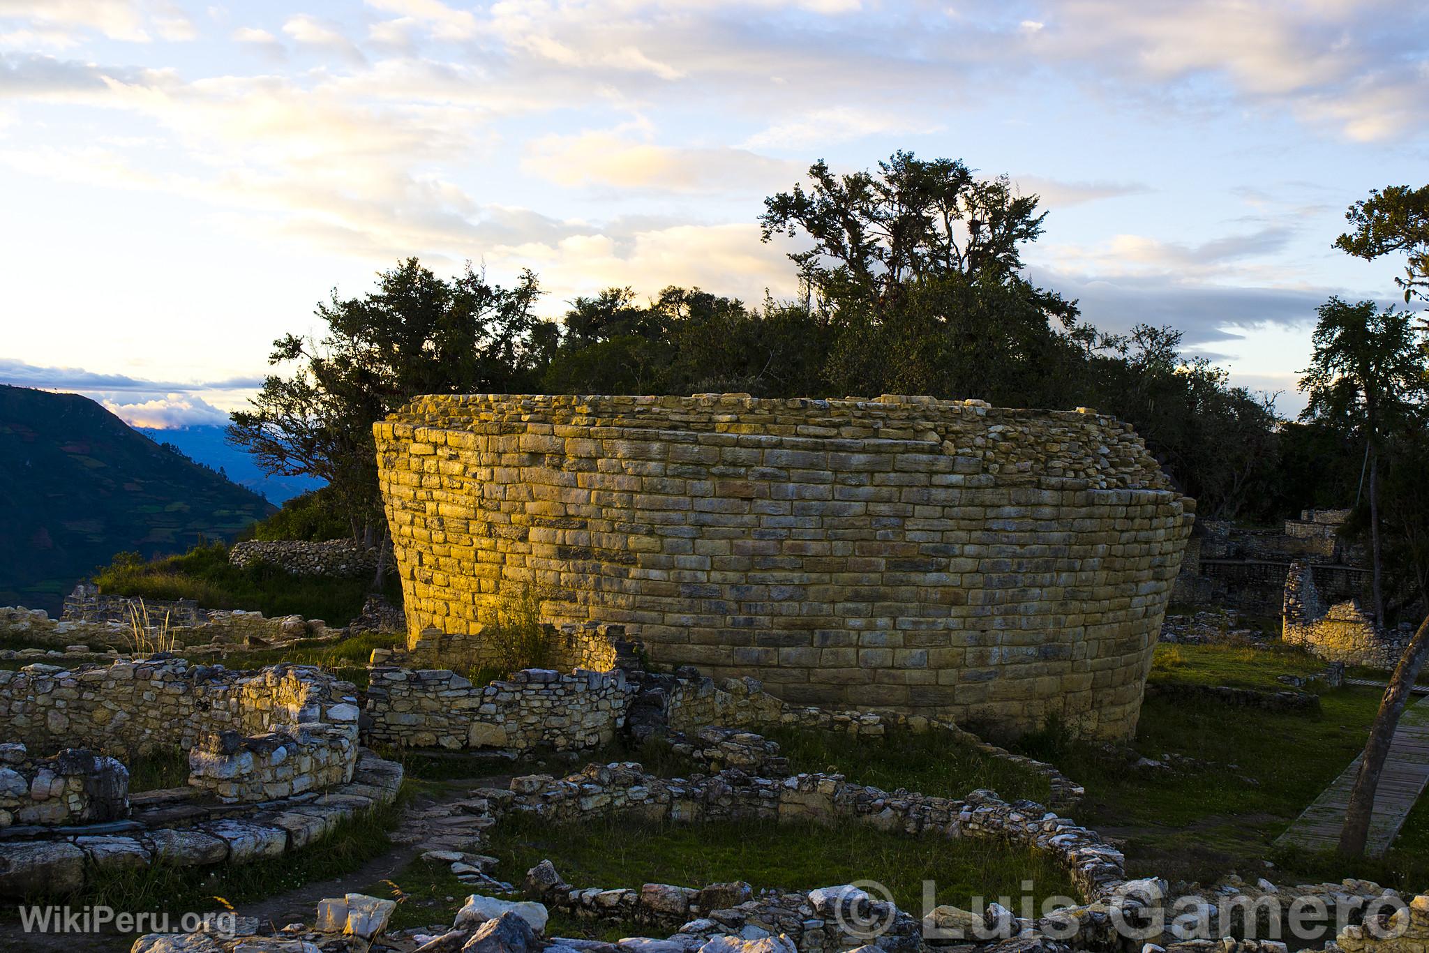
[[[0,744],[0,830],[11,824],[89,824],[129,816],[129,770],[113,757],[64,749],[31,757]]]

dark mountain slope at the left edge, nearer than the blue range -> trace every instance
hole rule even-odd
[[[0,606],[59,612],[114,553],[180,553],[272,512],[87,397],[0,386]]]

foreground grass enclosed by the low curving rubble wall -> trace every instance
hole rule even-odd
[[[610,816],[582,824],[552,824],[516,814],[487,832],[483,853],[500,860],[497,876],[512,883],[520,883],[529,869],[550,859],[574,887],[639,889],[644,883],[702,887],[746,880],[757,892],[875,880],[909,912],[923,909],[925,882],[935,884],[937,903],[979,910],[999,897],[1022,897],[1022,884],[1029,880],[1039,904],[1046,897],[1076,896],[1066,872],[1030,849],[1009,849],[995,840],[915,837],[859,823],[674,824]],[[413,903],[399,910],[406,926],[450,923],[462,900],[473,892],[444,864],[420,860],[394,880],[412,894]],[[616,939],[639,936],[637,930],[632,924],[564,919],[553,923],[547,934]]]

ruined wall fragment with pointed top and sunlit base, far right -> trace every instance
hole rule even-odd
[[[1359,602],[1326,606],[1310,563],[1292,563],[1285,580],[1282,640],[1320,659],[1390,670],[1409,643],[1406,632],[1386,632]]]

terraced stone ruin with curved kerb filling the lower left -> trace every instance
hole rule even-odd
[[[0,670],[0,896],[313,843],[402,783],[400,766],[360,749],[359,714],[356,689],[310,666],[231,672],[159,654]],[[176,749],[184,787],[129,790],[124,760]]]

